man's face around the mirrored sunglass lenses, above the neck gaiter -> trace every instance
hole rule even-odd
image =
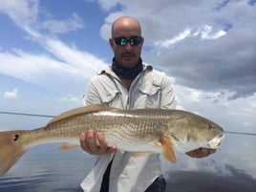
[[[143,45],[143,38],[138,45],[131,45],[131,42],[127,42],[126,45],[121,46],[115,42],[116,37],[124,37],[124,39],[130,40],[131,37],[140,37],[139,28],[133,25],[117,26],[114,35],[109,39],[109,43],[114,52],[116,61],[124,68],[133,68],[137,65]]]

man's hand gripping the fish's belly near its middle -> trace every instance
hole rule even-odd
[[[106,140],[100,133],[95,133],[94,130],[89,130],[80,135],[81,148],[92,155],[104,155],[113,153],[117,150],[117,145],[108,147]]]

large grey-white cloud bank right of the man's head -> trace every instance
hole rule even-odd
[[[177,83],[204,91],[228,90],[235,93],[233,99],[256,92],[255,4],[131,0],[108,11],[102,37],[107,39],[117,16],[138,18],[145,37],[143,59],[175,76]]]

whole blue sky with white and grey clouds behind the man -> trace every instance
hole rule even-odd
[[[0,111],[82,106],[90,77],[111,64],[111,24],[122,15],[139,20],[142,59],[170,76],[179,108],[256,133],[255,0],[0,0]],[[10,130],[49,119],[0,120]]]

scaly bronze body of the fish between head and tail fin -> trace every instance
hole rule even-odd
[[[128,145],[131,142],[130,145],[136,145],[136,140],[139,143],[143,139],[158,141],[167,119],[166,114],[160,114],[160,111],[156,113],[155,110],[97,112],[60,119],[49,123],[45,128],[24,134],[21,139],[31,147],[32,144],[40,144],[43,140],[52,142],[55,139],[57,142],[78,138],[80,133],[95,129],[96,132],[103,133],[110,144],[123,142]]]

